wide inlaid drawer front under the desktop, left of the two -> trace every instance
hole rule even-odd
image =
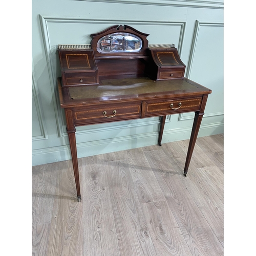
[[[101,104],[73,109],[76,125],[136,119],[141,117],[141,101],[130,104]]]

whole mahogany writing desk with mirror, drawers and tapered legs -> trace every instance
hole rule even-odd
[[[143,34],[129,26],[126,26],[125,29],[121,27],[121,30],[133,32],[133,35],[137,37]],[[99,38],[106,36],[110,38],[109,35],[113,31],[116,31],[116,26],[97,35]],[[81,194],[75,126],[161,116],[158,140],[161,145],[166,115],[195,112],[184,167],[184,176],[187,176],[188,165],[204,115],[207,97],[211,90],[184,78],[185,66],[176,55],[176,48],[157,48],[152,52],[148,49],[145,37],[145,34],[144,38],[140,37],[143,39],[141,49],[145,50],[144,53],[141,53],[140,49],[135,53],[128,52],[124,55],[126,52],[123,51],[125,50],[121,50],[121,54],[111,55],[116,53],[107,52],[106,55],[100,53],[103,54],[101,56],[96,49],[59,50],[62,68],[62,77],[57,80],[59,99],[60,106],[65,109],[66,114],[67,133],[79,202]],[[120,37],[117,38],[120,39]],[[116,44],[124,45],[123,42],[120,44],[117,40]],[[102,45],[105,46],[106,42],[104,41]],[[140,55],[136,55],[137,53]],[[162,66],[157,66],[157,60],[154,59],[156,57]],[[66,62],[63,63],[63,61]],[[135,72],[132,67],[135,63],[136,73],[132,74]],[[172,63],[175,65],[171,66]],[[130,67],[132,71],[126,66]],[[131,74],[127,74],[129,72]],[[83,84],[80,85],[79,82]]]

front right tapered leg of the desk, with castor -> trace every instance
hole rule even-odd
[[[196,144],[196,140],[197,140],[197,136],[198,136],[198,132],[199,132],[200,124],[202,122],[203,115],[204,115],[204,113],[195,112],[195,118],[194,118],[192,132],[191,132],[191,136],[190,136],[190,140],[189,140],[187,157],[186,157],[186,162],[185,162],[185,167],[184,167],[184,176],[187,176],[188,166],[189,166],[189,163],[190,163],[190,160],[191,160],[191,157],[193,154],[193,150],[194,150],[194,147]]]

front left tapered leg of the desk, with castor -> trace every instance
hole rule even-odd
[[[70,144],[70,151],[72,156],[72,163],[73,163],[73,170],[75,176],[75,183],[76,183],[76,193],[77,193],[77,200],[78,202],[81,201],[81,193],[80,193],[80,183],[79,183],[79,172],[78,172],[78,161],[77,161],[77,151],[76,151],[76,131],[67,131],[69,135],[69,144]]]

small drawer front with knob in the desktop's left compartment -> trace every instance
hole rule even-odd
[[[72,72],[65,73],[65,85],[66,86],[83,86],[85,84],[98,83],[96,72]]]

